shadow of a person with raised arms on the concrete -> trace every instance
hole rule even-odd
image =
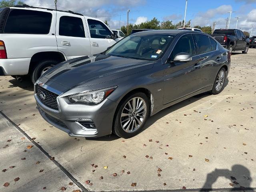
[[[219,177],[225,177],[230,179],[229,185],[233,188],[228,188],[228,191],[254,191],[254,188],[250,187],[252,178],[248,168],[242,165],[234,165],[231,170],[228,169],[215,169],[213,172],[207,174],[206,182],[200,191],[212,191],[216,190],[212,188],[212,185]],[[227,184],[228,185],[228,184]]]

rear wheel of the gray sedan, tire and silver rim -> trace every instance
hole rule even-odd
[[[225,81],[226,81],[226,70],[225,68],[221,68],[215,78],[211,93],[216,95],[222,92],[222,90],[224,89]]]

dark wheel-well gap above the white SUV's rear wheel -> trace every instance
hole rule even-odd
[[[66,61],[66,57],[61,52],[56,51],[38,52],[34,54],[30,60],[28,74],[34,70],[38,62],[43,60],[56,60],[58,62],[63,62]]]

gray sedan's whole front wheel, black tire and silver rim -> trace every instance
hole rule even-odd
[[[150,105],[146,94],[137,92],[126,97],[118,106],[114,132],[122,138],[131,138],[142,130],[149,116]]]

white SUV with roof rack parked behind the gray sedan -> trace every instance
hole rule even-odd
[[[98,54],[118,40],[101,20],[71,11],[0,8],[0,75],[29,74],[36,82],[52,66]]]

